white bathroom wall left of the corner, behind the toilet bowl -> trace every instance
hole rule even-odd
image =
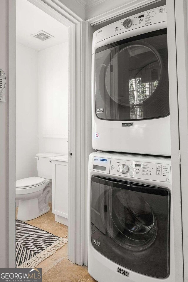
[[[16,180],[37,176],[38,52],[16,44]]]

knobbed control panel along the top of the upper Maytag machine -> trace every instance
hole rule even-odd
[[[130,16],[129,18],[116,21],[113,24],[95,31],[96,34],[96,43],[105,40],[116,34],[126,32],[135,28],[142,26],[147,26],[150,24],[156,24],[167,20],[166,15],[166,6],[161,6],[153,10],[148,10],[140,14]]]

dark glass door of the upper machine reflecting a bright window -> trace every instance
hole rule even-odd
[[[166,29],[96,49],[95,106],[105,120],[169,115]]]

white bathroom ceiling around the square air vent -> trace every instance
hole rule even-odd
[[[54,36],[45,41],[31,36],[45,31]],[[68,27],[27,0],[16,1],[16,42],[36,51],[68,41]]]

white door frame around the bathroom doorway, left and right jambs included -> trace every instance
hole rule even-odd
[[[84,263],[84,170],[87,103],[84,98],[84,21],[58,0],[28,0],[69,28],[69,229],[68,259]],[[15,267],[16,1],[9,0],[8,187],[9,267]],[[86,113],[86,114],[85,114]],[[70,152],[71,157],[70,157]]]

